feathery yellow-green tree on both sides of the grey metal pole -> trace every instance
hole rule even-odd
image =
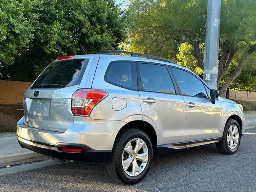
[[[179,48],[184,50],[180,44],[187,43],[193,56],[190,67],[193,69],[196,64],[203,69],[206,0],[130,2],[133,21],[130,27],[132,50],[174,59],[178,57],[182,62],[184,53],[179,53],[178,56],[176,53]],[[222,0],[218,65],[218,87],[221,95],[226,93],[228,86],[241,74],[244,64],[250,61],[256,50],[255,8],[256,1]],[[255,64],[255,61],[252,62]],[[223,81],[231,63],[236,63],[236,69]],[[184,65],[188,66],[188,62]]]

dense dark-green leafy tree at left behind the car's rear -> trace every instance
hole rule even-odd
[[[84,54],[80,44],[89,54],[118,49],[126,18],[114,0],[2,0],[1,78],[34,80],[58,56]]]

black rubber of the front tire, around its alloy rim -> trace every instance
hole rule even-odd
[[[236,125],[237,128],[238,128],[238,133],[239,133],[238,144],[237,144],[235,150],[231,150],[231,149],[229,148],[228,142],[227,142],[227,138],[228,138],[228,129],[230,128],[231,125]],[[230,154],[234,154],[234,153],[238,150],[238,148],[239,148],[239,146],[240,146],[240,141],[241,141],[241,129],[240,129],[240,126],[239,126],[238,122],[237,122],[236,120],[234,120],[234,119],[229,120],[228,123],[227,123],[226,126],[225,126],[225,130],[224,130],[224,133],[223,133],[223,142],[224,142],[224,146],[225,146],[226,150],[227,150]]]

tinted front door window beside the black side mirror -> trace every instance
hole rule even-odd
[[[200,98],[208,98],[204,89],[204,84],[198,78],[196,78],[196,76],[177,68],[172,68],[172,70],[176,80],[178,81],[182,94]]]

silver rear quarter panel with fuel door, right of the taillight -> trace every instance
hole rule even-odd
[[[124,122],[134,119],[142,120],[142,110],[140,107],[140,96],[138,90],[125,89],[110,84],[104,80],[108,64],[115,60],[127,60],[127,58],[100,55],[92,88],[104,90],[108,93],[108,96],[94,107],[90,114],[90,118],[101,120],[120,120]],[[118,99],[120,103],[118,103]],[[124,104],[125,101],[126,106]]]

